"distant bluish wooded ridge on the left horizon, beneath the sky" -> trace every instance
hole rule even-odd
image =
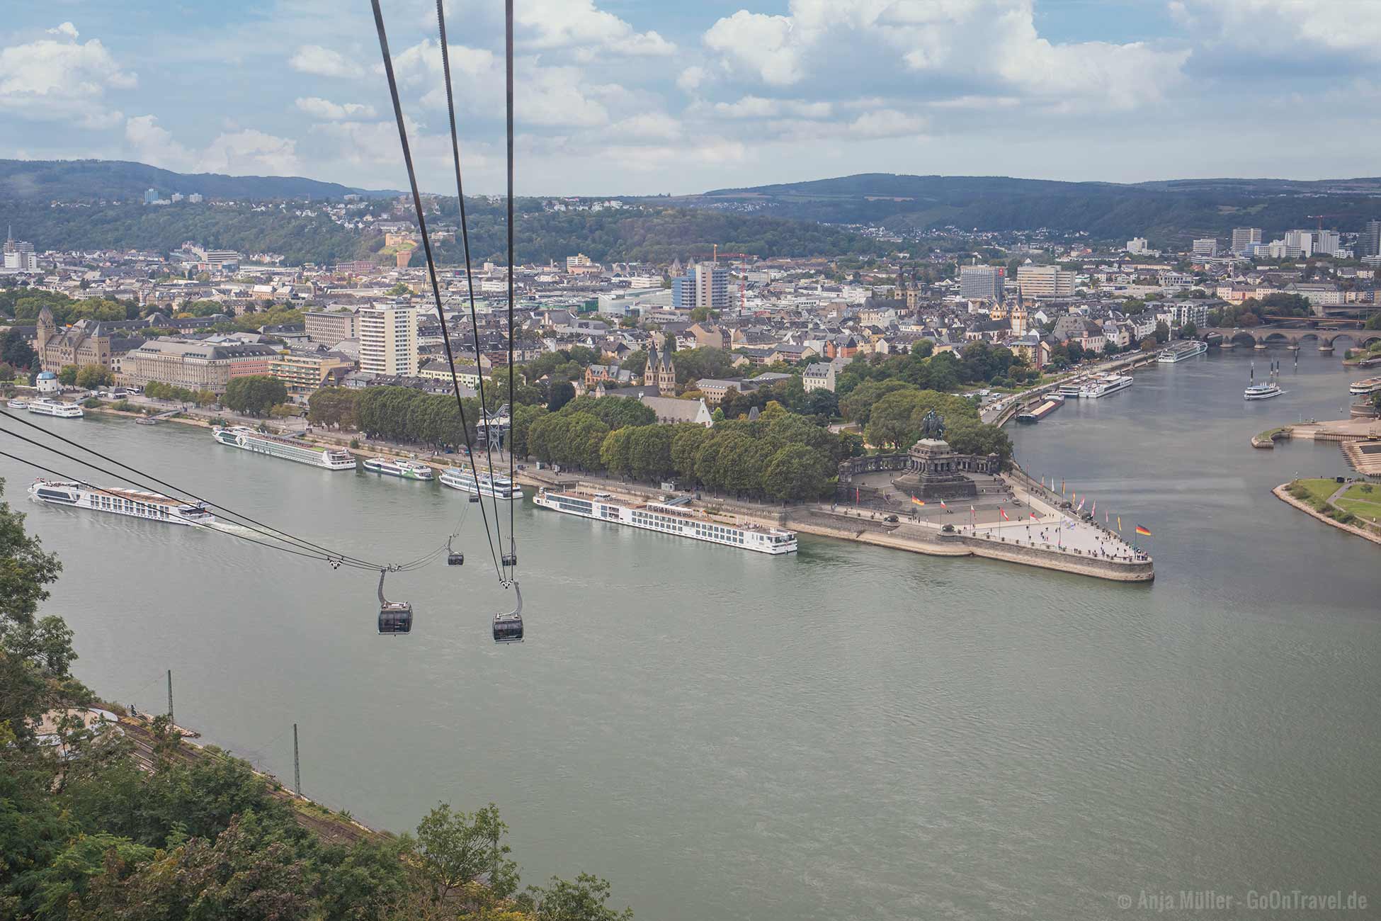
[[[351,192],[395,195],[318,182],[298,175],[221,175],[171,173],[127,160],[0,160],[0,200],[43,199],[95,202],[142,199],[146,189],[163,197],[200,192],[206,197],[267,202],[271,199],[338,199]]]

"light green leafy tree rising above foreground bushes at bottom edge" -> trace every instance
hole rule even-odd
[[[481,875],[500,898],[518,888],[518,864],[504,842],[508,826],[499,817],[499,806],[489,804],[474,813],[452,812],[439,804],[417,824],[417,851],[423,875],[432,902],[441,904],[449,892]]]

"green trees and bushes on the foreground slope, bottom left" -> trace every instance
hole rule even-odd
[[[0,481],[3,496],[3,481]],[[416,835],[325,842],[311,815],[243,761],[191,755],[153,721],[152,769],[126,736],[44,712],[95,703],[70,671],[72,631],[39,617],[61,570],[0,501],[0,917],[33,921],[627,921],[606,881],[519,889],[493,804],[442,804]],[[318,816],[320,817],[320,816]]]

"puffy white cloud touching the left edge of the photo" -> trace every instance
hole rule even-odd
[[[88,128],[120,123],[123,116],[106,102],[106,91],[133,90],[138,79],[99,40],[76,41],[76,29],[65,28],[70,25],[57,29],[70,41],[40,39],[0,48],[0,112]]]

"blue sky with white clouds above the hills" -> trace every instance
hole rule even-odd
[[[467,192],[504,189],[503,4],[445,0]],[[519,195],[853,173],[1377,175],[1381,0],[516,0]],[[0,15],[0,157],[406,188],[367,0]],[[384,0],[454,192],[435,0]]]

